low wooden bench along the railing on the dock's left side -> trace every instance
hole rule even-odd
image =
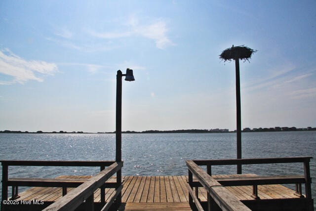
[[[76,188],[89,178],[8,178],[7,185],[12,186],[12,200],[18,199],[18,187],[62,187],[63,196],[67,194],[67,188]],[[122,181],[123,182],[123,181]],[[101,188],[117,188],[115,178],[108,179]]]

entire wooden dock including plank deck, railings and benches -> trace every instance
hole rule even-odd
[[[116,161],[1,161],[1,211],[314,211],[310,159],[187,160],[188,175],[180,176],[122,176],[123,163]],[[212,174],[212,166],[275,163],[302,163],[304,174]],[[100,167],[100,172],[14,178],[9,177],[9,166],[86,166]],[[200,166],[206,166],[206,171]],[[282,184],[292,184],[295,190]],[[19,187],[30,188],[21,192]]]

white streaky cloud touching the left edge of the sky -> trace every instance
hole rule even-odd
[[[29,80],[42,82],[44,75],[54,75],[56,72],[58,72],[58,68],[54,63],[25,60],[12,53],[9,49],[0,50],[0,73],[13,77],[13,80],[0,81],[2,85],[24,84]]]

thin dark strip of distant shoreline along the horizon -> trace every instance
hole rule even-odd
[[[296,127],[270,127],[270,128],[253,128],[250,129],[248,127],[244,128],[242,132],[286,132],[286,131],[311,131],[316,130],[316,127],[306,127],[306,128],[296,128]],[[228,133],[228,132],[236,132],[229,131],[228,129],[181,129],[181,130],[145,130],[145,131],[122,131],[122,133]],[[16,130],[3,130],[0,133],[25,133],[25,134],[42,134],[42,133],[49,133],[49,134],[113,134],[113,132],[83,132],[83,131],[72,131],[67,132],[60,130],[52,131],[52,132],[44,132],[44,131],[37,131],[37,132],[29,132],[29,131],[16,131]]]

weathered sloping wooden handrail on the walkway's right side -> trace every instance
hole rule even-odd
[[[186,161],[186,163],[189,169],[189,184],[192,183],[191,172],[197,177],[202,186],[207,190],[208,195],[223,211],[250,211],[236,196],[197,166],[194,161]],[[208,203],[210,203],[210,200],[208,200]]]

